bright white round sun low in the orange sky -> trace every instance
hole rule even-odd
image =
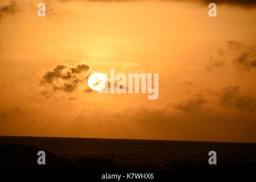
[[[88,86],[92,90],[100,91],[105,88],[107,78],[102,73],[94,73],[88,79]]]

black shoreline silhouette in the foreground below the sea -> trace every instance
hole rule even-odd
[[[42,148],[23,144],[0,146],[1,170],[33,170],[33,171],[213,171],[213,170],[256,170],[255,154],[251,154],[251,162],[218,162],[209,165],[206,162],[189,160],[173,161],[165,165],[115,163],[112,159],[80,158],[76,162],[60,158],[52,152],[46,152],[46,165],[37,163],[37,152]],[[234,154],[230,154],[234,155]]]

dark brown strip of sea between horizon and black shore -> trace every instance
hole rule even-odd
[[[256,143],[0,136],[0,145],[4,144],[25,144],[55,154],[256,154]]]

